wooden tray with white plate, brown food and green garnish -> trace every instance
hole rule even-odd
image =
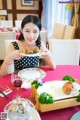
[[[32,86],[36,109],[47,112],[80,105],[80,84],[68,80],[48,81],[37,89]]]

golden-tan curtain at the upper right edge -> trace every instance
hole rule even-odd
[[[80,7],[80,0],[74,0],[74,15],[72,19],[72,25],[78,27],[79,24],[79,7]]]

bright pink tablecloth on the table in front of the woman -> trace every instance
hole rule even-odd
[[[41,67],[46,72],[46,77],[44,81],[51,80],[61,80],[64,75],[71,75],[72,77],[78,79],[80,83],[80,66],[76,65],[58,65],[56,70],[50,70],[47,66]],[[10,81],[10,75],[0,77],[0,86],[5,87],[8,85],[12,88],[13,92],[8,95],[9,99],[0,97],[0,112],[3,112],[5,105],[12,100],[15,96],[15,88]],[[1,88],[0,88],[1,89]],[[31,93],[31,89],[20,89],[20,96],[28,98]],[[70,120],[71,116],[80,111],[80,106],[65,108],[61,110],[55,110],[50,112],[41,113],[41,120]]]

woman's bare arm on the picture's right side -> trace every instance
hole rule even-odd
[[[46,48],[45,44],[41,42],[41,50],[45,51],[45,54],[42,56],[42,58],[46,61],[46,63],[49,65],[51,69],[56,69],[56,65],[53,59],[53,56],[51,52]]]

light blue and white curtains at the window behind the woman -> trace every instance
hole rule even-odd
[[[59,1],[43,0],[42,26],[47,29],[48,37],[52,34],[55,22],[66,25],[71,24],[72,10],[67,11],[65,9],[66,3],[61,4]]]

